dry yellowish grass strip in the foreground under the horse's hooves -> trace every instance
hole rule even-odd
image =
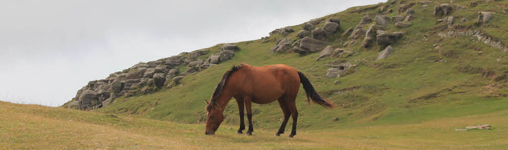
[[[116,117],[86,111],[0,102],[3,149],[506,149],[508,111],[416,124],[299,130],[296,138],[275,131],[235,134],[221,126],[214,136],[203,125]],[[493,130],[454,131],[490,123]]]

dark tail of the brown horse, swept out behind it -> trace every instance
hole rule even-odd
[[[321,95],[317,94],[316,90],[310,84],[310,81],[305,77],[305,75],[298,71],[298,76],[300,76],[300,82],[303,84],[303,89],[305,89],[305,93],[307,94],[307,101],[310,102],[312,99],[313,102],[320,104],[326,108],[333,108],[336,107],[333,102],[321,97]]]

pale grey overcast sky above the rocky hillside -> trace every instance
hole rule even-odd
[[[59,106],[88,81],[138,62],[379,2],[1,1],[0,100]]]

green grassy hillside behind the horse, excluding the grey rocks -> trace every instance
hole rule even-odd
[[[376,15],[386,15],[388,18],[404,15],[405,12],[398,14],[400,6],[411,3],[414,3],[409,8],[414,10],[414,20],[409,21],[411,26],[399,28],[395,26],[393,20],[384,26],[384,31],[389,33],[405,32],[400,39],[390,44],[394,51],[389,57],[376,61],[378,53],[385,47],[374,42],[372,47],[362,48],[363,37],[356,44],[343,46],[349,41],[347,36],[350,33],[346,33],[345,36],[342,34],[347,29],[357,26],[365,15],[370,15],[372,20]],[[203,100],[210,98],[225,71],[232,65],[244,62],[255,66],[280,63],[293,66],[306,74],[316,91],[339,106],[335,109],[326,109],[316,104],[309,106],[306,103],[304,90],[301,88],[297,107],[298,128],[302,132],[316,129],[345,130],[371,126],[379,128],[394,125],[411,126],[465,116],[505,112],[508,109],[508,78],[506,78],[508,53],[502,50],[506,48],[504,43],[508,42],[508,37],[505,36],[508,31],[506,26],[508,2],[482,1],[474,6],[471,1],[454,1],[448,15],[434,16],[434,8],[439,3],[444,4],[449,1],[433,1],[427,4],[428,7],[423,7],[425,3],[420,1],[389,1],[383,4],[350,8],[318,18],[340,20],[339,31],[328,36],[326,43],[333,48],[342,48],[352,53],[338,57],[325,57],[316,61],[315,59],[320,55],[319,52],[308,55],[300,55],[289,50],[278,54],[270,53],[270,49],[283,38],[281,34],[272,34],[269,42],[266,43],[263,43],[261,39],[234,43],[240,50],[234,53],[232,59],[203,69],[196,74],[184,76],[179,85],[158,88],[150,94],[119,97],[110,105],[92,111],[184,124],[202,124],[206,120]],[[380,12],[381,8],[385,8],[383,12]],[[391,13],[385,13],[390,9],[393,10]],[[494,14],[488,22],[478,23],[478,13],[483,11],[494,12]],[[438,19],[447,16],[454,17],[453,24],[437,22]],[[323,27],[325,22],[321,21],[315,27]],[[376,24],[376,21],[367,23],[362,28],[368,30],[372,24]],[[303,29],[303,25],[291,26],[294,32],[284,38],[292,41],[300,39],[297,34]],[[485,44],[486,42],[479,41],[477,37],[470,35],[438,36],[439,33],[453,31],[459,34],[458,32],[470,30],[482,32],[492,42],[500,42],[502,48]],[[200,58],[206,59],[213,53],[218,53],[221,46],[223,44],[207,48],[210,52]],[[325,77],[327,69],[331,68],[330,64],[342,62],[354,66],[340,78]],[[185,68],[184,65],[180,66],[181,72]],[[277,131],[282,119],[282,111],[276,102],[254,104],[253,112],[254,134],[265,134],[258,132],[259,129],[269,132],[269,135]],[[227,117],[223,124],[237,128],[238,108],[234,100],[225,108],[225,115]],[[482,123],[494,124],[471,120],[471,122],[464,122],[463,125],[454,125],[467,126]],[[291,121],[288,126],[291,126]],[[230,135],[229,132],[234,132],[225,131],[225,129],[222,131],[219,130],[217,134]],[[305,134],[307,133],[299,133],[297,137],[308,136]]]

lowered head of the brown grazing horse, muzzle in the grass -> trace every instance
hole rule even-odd
[[[215,134],[215,131],[217,131],[217,128],[219,128],[220,123],[224,121],[224,111],[218,105],[217,102],[207,102],[206,105],[206,111],[207,117],[206,117],[206,127],[205,127],[205,134],[206,135],[213,135]]]

